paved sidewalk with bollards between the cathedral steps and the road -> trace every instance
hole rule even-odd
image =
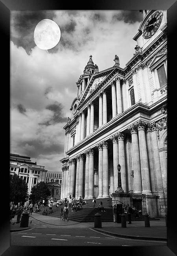
[[[69,217],[69,216],[68,216]],[[16,221],[16,217],[13,219]],[[32,221],[32,223],[30,223]],[[94,228],[92,223],[79,223],[76,221],[62,221],[59,218],[50,215],[44,216],[32,213],[29,218],[28,228],[20,228],[20,224],[10,224],[10,232],[29,230],[31,228],[92,228],[99,232],[118,237],[127,237],[132,239],[151,239],[157,241],[167,241],[167,227],[165,219],[160,221],[150,221],[150,227],[145,228],[144,221],[132,221],[127,227],[122,228],[121,223],[102,222],[102,228]]]

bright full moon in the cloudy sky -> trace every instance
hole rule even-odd
[[[61,31],[57,23],[50,19],[41,20],[34,30],[34,41],[42,50],[52,49],[59,43]]]

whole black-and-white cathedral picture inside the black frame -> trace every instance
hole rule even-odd
[[[167,27],[10,11],[10,246],[167,247]]]

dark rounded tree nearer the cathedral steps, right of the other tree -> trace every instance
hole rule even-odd
[[[50,190],[48,189],[47,185],[44,181],[37,183],[36,186],[32,187],[30,200],[32,202],[39,202],[41,199],[46,199],[51,195]]]

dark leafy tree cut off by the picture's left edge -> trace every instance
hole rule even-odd
[[[10,176],[10,202],[26,202],[28,200],[28,185],[17,174]]]

